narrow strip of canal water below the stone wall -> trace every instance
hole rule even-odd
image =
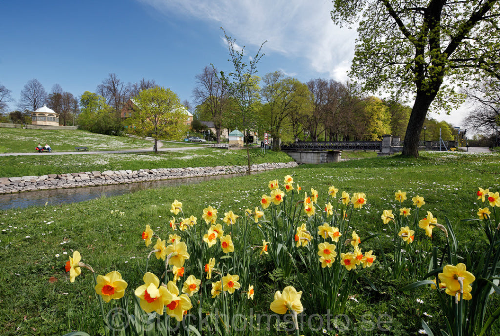
[[[176,186],[183,184],[199,183],[213,179],[224,179],[240,174],[188,177],[175,179],[162,179],[156,181],[122,183],[110,185],[84,186],[79,188],[49,189],[30,192],[18,192],[0,195],[0,209],[25,208],[30,205],[56,205],[64,203],[81,202],[84,200],[100,198],[102,196],[117,196],[135,191],[153,189],[162,186]]]

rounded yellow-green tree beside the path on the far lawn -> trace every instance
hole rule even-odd
[[[132,122],[139,134],[154,138],[154,152],[159,139],[180,139],[187,131],[186,113],[178,95],[163,87],[141,90],[133,97]]]

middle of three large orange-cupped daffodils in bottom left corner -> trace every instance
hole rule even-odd
[[[168,290],[159,285],[159,279],[151,272],[142,276],[141,284],[135,288],[135,296],[139,298],[139,305],[145,312],[156,311],[163,314],[163,299],[168,295]]]

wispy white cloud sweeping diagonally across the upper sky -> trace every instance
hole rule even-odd
[[[266,50],[305,58],[310,68],[345,80],[353,56],[355,29],[335,26],[325,0],[138,0],[165,14],[215,21],[239,43],[267,40]]]

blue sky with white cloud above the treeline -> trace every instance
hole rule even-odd
[[[335,26],[331,9],[327,0],[0,0],[0,83],[14,99],[31,78],[78,96],[115,73],[192,101],[204,66],[232,69],[221,26],[247,56],[267,40],[259,75],[345,81],[356,32]]]

